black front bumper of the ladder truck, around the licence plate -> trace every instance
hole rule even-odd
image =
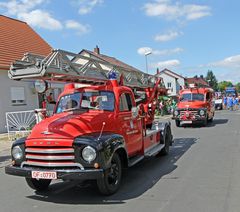
[[[32,171],[34,169],[30,168],[20,168],[16,166],[6,166],[5,173],[9,175],[21,176],[21,177],[32,177]],[[103,169],[91,169],[91,170],[41,170],[38,171],[56,171],[57,172],[57,179],[62,180],[93,180],[103,177]]]

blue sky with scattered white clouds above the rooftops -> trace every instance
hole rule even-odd
[[[27,22],[53,48],[79,52],[98,45],[149,73],[169,68],[183,76],[212,70],[240,82],[240,1],[8,0],[0,13]]]

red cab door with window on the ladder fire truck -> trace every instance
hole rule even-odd
[[[139,116],[132,116],[132,107],[135,106],[133,96],[129,92],[119,96],[119,129],[122,131],[128,154],[131,156],[142,149],[142,124]]]

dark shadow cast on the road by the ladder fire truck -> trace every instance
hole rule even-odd
[[[176,138],[168,156],[146,159],[124,172],[120,190],[112,196],[102,196],[96,186],[76,182],[57,182],[45,193],[36,192],[27,198],[60,204],[124,204],[152,188],[164,176],[173,172],[178,159],[195,144],[196,138]],[[168,176],[167,179],[177,179]]]

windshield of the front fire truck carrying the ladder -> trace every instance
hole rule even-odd
[[[114,94],[109,91],[89,91],[62,96],[56,113],[71,110],[114,110]]]

